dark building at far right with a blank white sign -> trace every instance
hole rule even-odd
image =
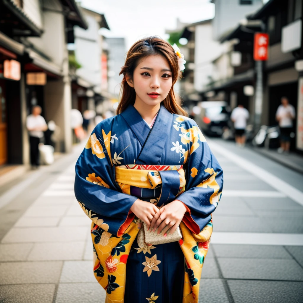
[[[270,0],[248,20],[261,20],[269,35],[268,60],[263,64],[262,122],[277,124],[275,113],[281,97],[296,108],[295,140],[292,149],[303,151],[303,48],[301,0]],[[301,65],[301,66],[300,66]]]

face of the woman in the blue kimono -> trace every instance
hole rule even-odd
[[[168,95],[172,86],[171,68],[161,55],[151,55],[139,62],[133,73],[132,82],[135,88],[136,102],[149,106],[160,104]]]

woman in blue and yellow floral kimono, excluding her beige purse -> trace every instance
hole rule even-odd
[[[136,42],[120,73],[118,115],[96,126],[76,164],[106,302],[198,302],[223,172],[196,123],[178,115],[183,63],[160,38]],[[182,239],[139,247],[142,222],[163,237],[180,226]]]

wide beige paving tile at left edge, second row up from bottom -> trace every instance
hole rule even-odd
[[[62,261],[2,262],[0,284],[58,283]]]

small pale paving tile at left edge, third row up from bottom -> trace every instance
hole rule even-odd
[[[33,243],[0,244],[0,261],[25,261]]]

